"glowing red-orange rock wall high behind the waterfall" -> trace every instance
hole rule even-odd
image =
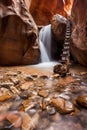
[[[66,0],[66,4],[69,2]],[[38,25],[49,24],[56,13],[67,16],[62,0],[31,0],[30,13]]]

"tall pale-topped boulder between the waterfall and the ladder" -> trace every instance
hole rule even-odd
[[[60,60],[63,44],[65,40],[67,19],[59,14],[53,16],[51,20],[52,42],[51,54],[55,60]]]

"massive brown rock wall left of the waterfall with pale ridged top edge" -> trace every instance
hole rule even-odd
[[[39,62],[38,29],[23,0],[0,0],[0,65]]]

